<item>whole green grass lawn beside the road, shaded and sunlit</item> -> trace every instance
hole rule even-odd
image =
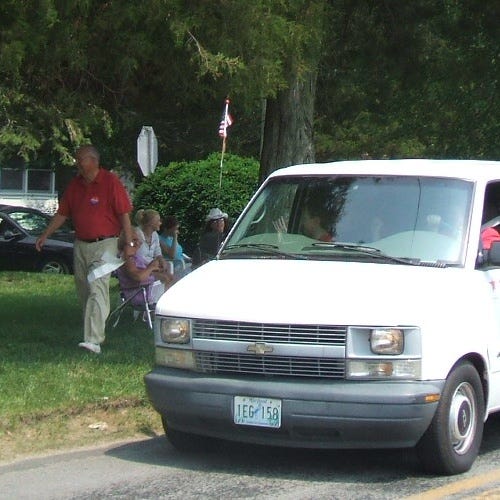
[[[117,301],[112,279],[112,307]],[[108,328],[101,355],[79,348],[72,276],[0,272],[0,318],[0,447],[2,438],[51,418],[149,409],[143,377],[153,364],[152,332],[127,312]]]

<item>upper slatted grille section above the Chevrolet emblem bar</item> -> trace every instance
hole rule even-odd
[[[212,340],[344,346],[347,327],[195,319],[192,333],[193,338]]]

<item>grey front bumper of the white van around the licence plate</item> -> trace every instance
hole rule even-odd
[[[168,427],[231,441],[304,448],[406,448],[428,428],[444,380],[325,381],[207,376],[155,367],[148,397]],[[234,396],[282,401],[279,429],[237,425]]]

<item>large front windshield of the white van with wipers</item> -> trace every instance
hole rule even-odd
[[[276,177],[220,256],[461,265],[472,191],[448,178]]]

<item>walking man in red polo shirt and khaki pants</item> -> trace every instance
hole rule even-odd
[[[66,219],[72,220],[76,233],[75,284],[84,311],[84,341],[78,345],[99,354],[110,310],[110,275],[90,283],[87,277],[104,264],[105,253],[117,254],[118,236],[122,230],[127,244],[133,244],[129,215],[132,204],[118,177],[100,167],[99,152],[94,146],[80,147],[75,160],[78,175],[69,183],[57,213],[38,238],[36,247],[40,250]]]

